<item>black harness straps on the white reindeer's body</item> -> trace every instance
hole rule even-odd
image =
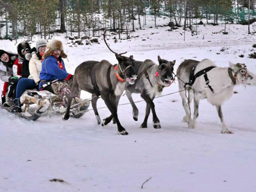
[[[207,86],[209,87],[211,92],[214,92],[213,88],[209,85],[209,78],[207,76],[207,72],[209,72],[209,70],[212,70],[216,66],[209,66],[207,68],[204,68],[203,70],[200,70],[199,72],[197,72],[197,74],[195,74],[195,68],[197,67],[197,64],[199,64],[199,62],[196,62],[193,65],[192,70],[189,74],[189,82],[186,82],[184,87],[186,87],[187,85],[192,86],[194,84],[196,78],[203,75],[203,77],[205,78],[205,84],[207,84]]]

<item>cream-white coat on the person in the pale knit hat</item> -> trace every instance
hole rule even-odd
[[[41,61],[41,56],[39,53],[37,54],[32,54],[31,59],[29,60],[29,78],[33,79],[35,81],[35,84],[39,82],[40,78],[40,72],[42,70],[42,61]]]

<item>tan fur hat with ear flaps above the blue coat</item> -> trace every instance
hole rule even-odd
[[[59,40],[53,39],[49,41],[46,45],[46,48],[47,49],[45,50],[45,54],[43,54],[43,58],[46,58],[47,56],[51,56],[54,50],[61,50],[61,57],[67,58],[67,54],[65,54],[63,50],[63,45]]]

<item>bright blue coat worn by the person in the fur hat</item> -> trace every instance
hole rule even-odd
[[[42,62],[42,70],[40,72],[39,78],[45,80],[46,82],[53,80],[69,80],[71,74],[67,73],[64,61],[60,59],[61,62],[57,60],[54,56],[47,56]],[[39,84],[39,88],[42,85],[42,81]]]

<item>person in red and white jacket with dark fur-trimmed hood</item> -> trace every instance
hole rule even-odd
[[[29,46],[29,43],[22,42],[19,43],[17,46],[17,52],[19,54],[19,58],[15,60],[13,63],[13,76],[9,78],[9,84],[7,88],[7,96],[5,97],[5,106],[10,107],[12,106],[11,98],[15,97],[16,94],[16,86],[21,77],[27,77],[23,76],[25,73],[25,70],[23,69],[23,63],[25,64],[27,61],[25,59],[25,54],[31,50],[31,47]]]

